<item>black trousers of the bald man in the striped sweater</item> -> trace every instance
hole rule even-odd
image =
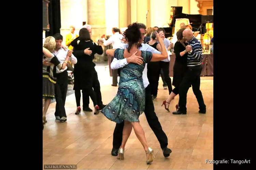
[[[193,92],[197,98],[200,110],[205,110],[206,106],[203,101],[203,95],[200,90],[200,74],[202,71],[202,65],[188,67],[187,73],[184,75],[180,87],[179,87],[179,110],[187,111],[187,92],[189,87],[192,85]]]

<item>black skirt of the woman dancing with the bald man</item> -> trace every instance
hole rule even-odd
[[[173,80],[172,85],[174,87],[179,87],[181,81],[187,72],[187,63],[175,62],[173,66]]]

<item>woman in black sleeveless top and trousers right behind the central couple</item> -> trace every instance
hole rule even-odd
[[[151,33],[151,40],[148,41],[146,44],[150,45],[151,47],[153,47],[158,51],[161,51],[161,46],[159,43],[157,43],[155,31]],[[148,78],[148,82],[150,83],[150,90],[151,90],[151,95],[153,99],[155,99],[157,96],[160,70],[161,70],[160,61],[149,62],[147,64],[147,78]]]

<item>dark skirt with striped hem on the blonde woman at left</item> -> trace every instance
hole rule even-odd
[[[54,83],[43,77],[43,99],[54,99]]]

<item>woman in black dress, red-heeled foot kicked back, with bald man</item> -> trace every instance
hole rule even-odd
[[[175,63],[173,66],[173,80],[172,85],[175,87],[170,96],[167,100],[163,101],[162,105],[165,105],[165,109],[170,112],[169,105],[172,99],[174,99],[175,96],[179,94],[179,86],[180,83],[184,77],[184,74],[187,72],[187,51],[186,46],[188,45],[186,43],[186,40],[183,39],[183,31],[185,28],[180,29],[177,31],[177,42],[174,45],[174,53],[176,55]],[[178,109],[178,105],[176,105],[176,109]]]

